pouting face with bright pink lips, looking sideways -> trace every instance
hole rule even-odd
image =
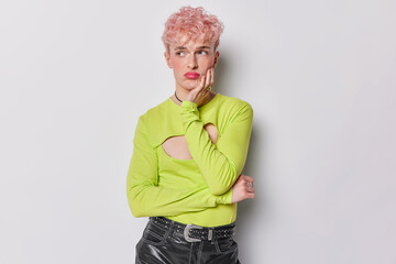
[[[190,90],[199,85],[208,68],[216,67],[220,53],[215,51],[213,43],[205,41],[204,35],[188,43],[186,40],[186,35],[178,37],[164,55],[174,72],[176,89]]]

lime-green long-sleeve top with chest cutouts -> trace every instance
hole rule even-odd
[[[221,94],[200,107],[168,98],[142,114],[127,176],[132,215],[201,227],[235,221],[232,186],[246,160],[252,119],[248,102]],[[208,123],[218,130],[216,144],[204,129]],[[185,135],[191,160],[164,151],[162,144],[178,135]]]

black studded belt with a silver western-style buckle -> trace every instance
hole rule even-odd
[[[150,221],[164,229],[174,229],[176,233],[183,234],[188,242],[211,241],[231,238],[235,234],[235,223],[228,226],[205,228],[196,224],[184,224],[164,217],[151,217]]]

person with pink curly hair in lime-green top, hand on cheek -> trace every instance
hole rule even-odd
[[[150,220],[136,263],[240,263],[237,202],[254,198],[242,175],[252,107],[211,90],[223,24],[183,7],[165,23],[165,61],[175,92],[140,116],[127,176],[134,217]]]

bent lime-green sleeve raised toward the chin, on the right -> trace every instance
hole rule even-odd
[[[252,131],[253,109],[244,103],[231,117],[231,123],[212,144],[204,129],[197,105],[183,101],[180,110],[188,150],[198,164],[211,194],[222,195],[231,189],[246,161]]]

